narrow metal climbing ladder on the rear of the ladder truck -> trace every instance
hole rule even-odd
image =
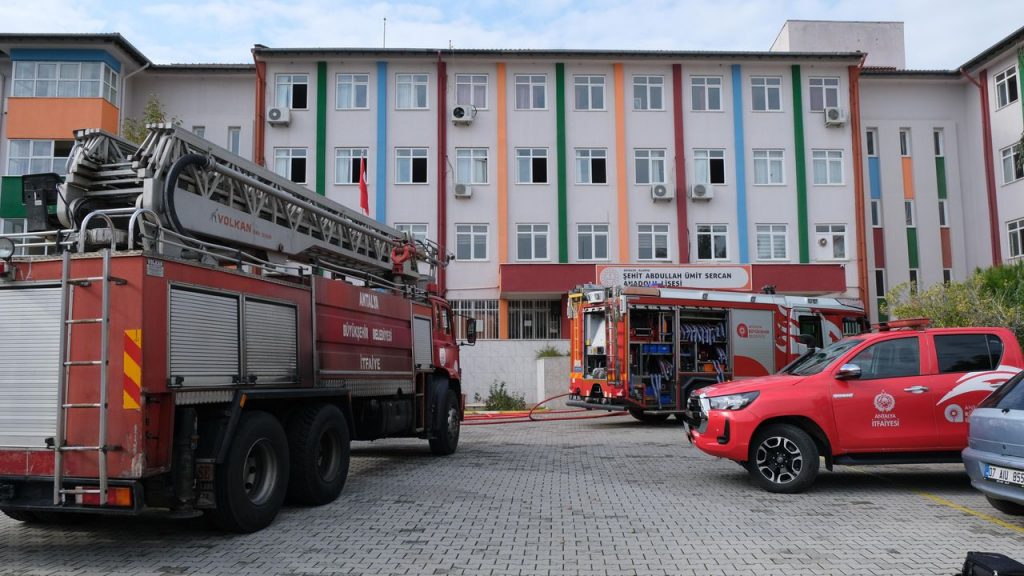
[[[111,284],[123,285],[126,281],[121,278],[111,276],[111,251],[104,249],[103,272],[101,276],[72,278],[71,277],[71,252],[63,253],[63,260],[60,268],[60,369],[57,372],[57,429],[56,439],[53,446],[53,504],[60,505],[66,496],[77,496],[85,494],[96,494],[99,497],[99,504],[106,504],[106,492],[110,486],[108,480],[106,455],[111,446],[106,444],[106,373],[110,364],[110,322],[111,322]],[[94,283],[99,283],[101,288],[101,311],[99,318],[75,318],[75,302],[73,299],[73,287],[88,288]],[[72,327],[77,325],[91,325],[99,328],[99,358],[95,360],[72,360]],[[70,403],[68,402],[69,386],[73,380],[82,381],[83,378],[72,378],[72,369],[78,367],[98,367],[99,368],[99,401],[95,403]],[[95,446],[81,446],[68,444],[68,415],[72,410],[95,410],[97,413],[97,442]],[[65,469],[63,455],[66,452],[95,452],[96,467],[98,469],[98,488],[76,488],[67,489],[63,487]]]

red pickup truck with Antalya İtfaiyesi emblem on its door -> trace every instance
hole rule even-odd
[[[895,325],[895,323],[893,323]],[[958,462],[968,417],[1024,367],[1005,328],[902,329],[844,338],[760,378],[694,393],[687,434],[769,492],[806,490],[833,464]]]

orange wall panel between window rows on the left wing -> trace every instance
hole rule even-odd
[[[118,133],[118,109],[103,98],[8,98],[7,137],[70,140],[79,128]]]

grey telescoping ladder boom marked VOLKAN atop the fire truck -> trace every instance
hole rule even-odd
[[[57,209],[68,228],[96,209],[144,208],[178,235],[270,261],[334,264],[411,283],[424,280],[417,262],[433,277],[446,260],[436,244],[413,242],[171,124],[151,125],[138,147],[101,130],[80,130],[76,140]]]

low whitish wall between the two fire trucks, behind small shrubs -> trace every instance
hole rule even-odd
[[[527,406],[544,400],[538,395],[537,352],[547,346],[555,346],[567,353],[568,340],[478,340],[475,346],[464,346],[462,355],[462,392],[467,402],[474,402],[473,397],[479,394],[486,398],[490,384],[505,382],[510,394],[521,394],[526,399]],[[562,373],[563,390],[568,392],[568,359]],[[545,390],[558,389],[554,383],[557,374],[545,371]],[[545,394],[547,394],[545,392]],[[554,396],[549,395],[549,396]]]

